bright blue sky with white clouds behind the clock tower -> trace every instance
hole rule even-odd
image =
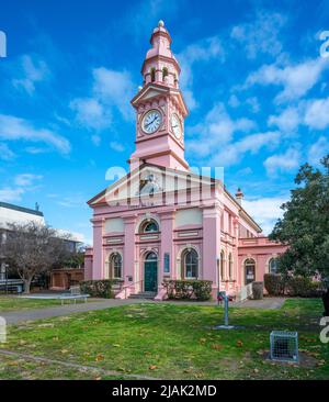
[[[1,201],[38,202],[91,239],[86,201],[134,150],[129,100],[159,19],[182,67],[190,165],[224,166],[269,232],[298,166],[329,152],[325,0],[2,2]]]

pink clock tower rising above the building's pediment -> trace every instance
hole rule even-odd
[[[188,108],[179,88],[180,66],[171,52],[171,37],[159,21],[151,48],[141,67],[143,86],[133,98],[136,110],[136,150],[131,170],[144,163],[189,170],[184,159],[184,119]]]

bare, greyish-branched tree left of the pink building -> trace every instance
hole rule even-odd
[[[7,226],[0,254],[10,271],[24,281],[25,293],[30,293],[31,282],[36,275],[50,271],[70,258],[69,236],[58,237],[54,228],[35,222],[8,223]]]

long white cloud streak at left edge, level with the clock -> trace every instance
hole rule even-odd
[[[70,152],[70,143],[67,138],[47,129],[36,129],[29,121],[13,115],[0,114],[0,138],[42,142],[56,148],[61,154]]]

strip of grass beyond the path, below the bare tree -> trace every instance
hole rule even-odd
[[[103,299],[98,299],[101,301]],[[88,302],[95,301],[95,299],[88,299]],[[72,302],[72,301],[71,301]],[[77,301],[77,303],[81,303],[82,301]],[[66,304],[69,301],[65,302]],[[42,309],[42,308],[52,308],[52,306],[59,306],[60,300],[56,299],[25,299],[21,297],[11,297],[11,295],[0,295],[0,315],[4,312],[10,311],[25,311],[25,310],[34,310],[34,309]]]

